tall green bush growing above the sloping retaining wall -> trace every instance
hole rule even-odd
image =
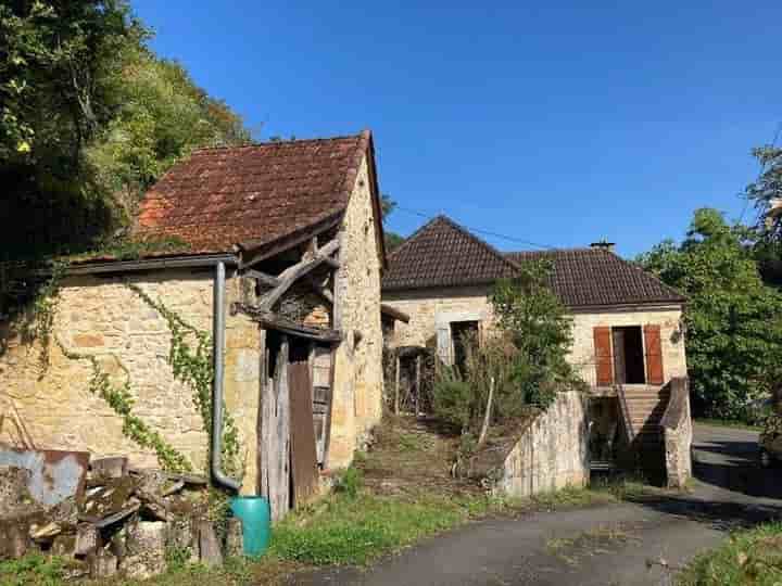
[[[432,407],[463,433],[478,432],[494,384],[491,422],[517,419],[530,407],[545,409],[557,390],[579,385],[567,361],[570,319],[548,289],[547,267],[525,266],[516,280],[499,281],[491,296],[496,331],[461,341],[464,365],[440,368]]]

